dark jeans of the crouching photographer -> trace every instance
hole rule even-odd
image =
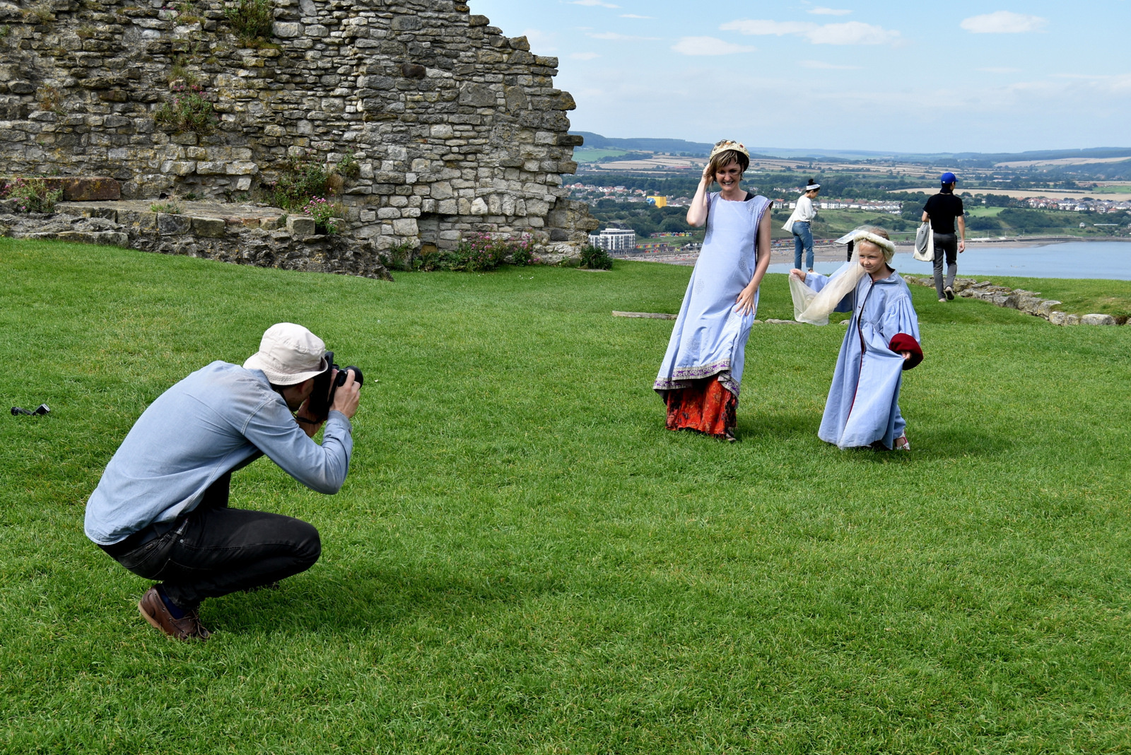
[[[313,566],[322,553],[318,530],[293,517],[228,509],[231,478],[228,472],[216,480],[200,504],[167,531],[152,537],[153,531],[143,530],[129,539],[152,539],[103,550],[135,574],[163,582],[165,595],[185,609]]]

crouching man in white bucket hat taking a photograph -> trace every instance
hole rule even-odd
[[[268,585],[318,561],[317,529],[230,509],[228,483],[266,454],[307,487],[337,493],[361,384],[361,371],[339,371],[320,338],[280,322],[242,367],[213,362],[143,413],[87,502],[85,530],[122,566],[158,581],[138,604],[149,624],[207,640],[205,598]],[[319,445],[311,439],[323,423]]]

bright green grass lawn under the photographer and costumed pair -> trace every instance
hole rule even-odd
[[[817,439],[843,327],[758,326],[741,443],[650,390],[690,268],[396,283],[0,238],[5,753],[1131,749],[1131,329],[914,287],[914,451]],[[1078,281],[1042,281],[1038,290]],[[761,318],[788,318],[768,276]],[[232,504],[321,561],[207,644],[83,506],[163,390],[301,322],[366,375],[349,478]]]

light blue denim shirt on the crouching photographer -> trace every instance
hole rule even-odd
[[[353,426],[330,411],[322,444],[294,420],[259,370],[213,362],[149,405],[106,465],[86,504],[86,536],[112,545],[200,503],[225,472],[262,454],[319,493],[337,493],[349,470]]]

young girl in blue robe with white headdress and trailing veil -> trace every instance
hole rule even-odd
[[[896,248],[887,232],[860,228],[853,241],[853,261],[832,276],[791,272],[815,292],[829,288],[823,297],[814,297],[798,320],[827,318],[829,311],[853,313],[817,434],[841,449],[871,445],[909,451],[899,387],[904,371],[923,361],[918,318],[907,284],[889,264]],[[846,292],[843,297],[841,292]]]

